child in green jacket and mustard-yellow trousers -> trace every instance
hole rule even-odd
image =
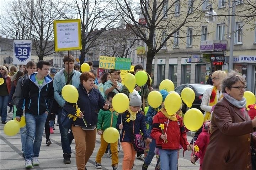
[[[98,114],[98,123],[97,123],[97,133],[98,135],[101,135],[101,146],[98,150],[97,156],[96,156],[96,161],[95,161],[95,168],[101,169],[101,158],[103,154],[106,151],[106,148],[108,146],[108,143],[104,140],[103,138],[103,133],[104,130],[110,127],[115,127],[117,123],[117,117],[118,113],[114,111],[112,107],[112,99],[116,95],[115,92],[111,91],[107,94],[107,103],[110,105],[110,109],[108,111],[103,111],[100,110]],[[112,168],[113,170],[118,170],[117,169],[117,164],[118,164],[118,150],[117,150],[117,144],[118,140],[114,143],[110,143],[110,149],[112,153]]]

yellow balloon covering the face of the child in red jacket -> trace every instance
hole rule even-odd
[[[181,103],[181,97],[177,92],[173,91],[167,95],[164,101],[164,106],[168,115],[171,116],[176,114],[178,109],[180,109]]]

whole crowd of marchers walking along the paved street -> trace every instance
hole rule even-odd
[[[9,70],[0,66],[0,116],[1,123],[6,123],[7,106],[13,119],[21,120],[25,116],[26,126],[20,129],[22,152],[25,168],[40,165],[39,152],[45,129],[46,145],[50,146],[50,134],[54,133],[55,119],[60,130],[63,150],[63,163],[71,163],[71,147],[75,139],[75,158],[78,170],[87,170],[86,164],[95,148],[96,135],[101,135],[101,146],[97,152],[95,168],[101,169],[104,153],[110,154],[113,170],[118,170],[118,152],[123,150],[123,170],[131,170],[134,160],[144,159],[142,170],[147,170],[154,156],[155,170],[177,170],[178,154],[191,151],[191,163],[200,159],[201,169],[252,169],[251,141],[255,145],[256,119],[249,117],[246,100],[245,79],[231,71],[210,74],[207,83],[213,87],[204,92],[201,109],[204,124],[196,132],[191,142],[187,141],[188,131],[182,118],[182,105],[174,114],[169,115],[164,100],[169,94],[160,90],[162,104],[152,108],[148,104],[148,95],[153,88],[150,81],[143,86],[135,86],[129,92],[122,84],[120,70],[110,69],[103,73],[98,82],[97,71],[93,62],[87,61],[89,72],[80,72],[80,66],[74,64],[71,55],[63,57],[64,68],[50,68],[47,61],[35,63],[29,61],[26,66],[15,66]],[[143,70],[141,65],[134,66],[133,74]],[[65,85],[78,89],[78,101],[69,103],[64,100],[62,89]],[[112,106],[113,97],[124,93],[129,97],[129,107],[118,113]],[[145,107],[149,106],[148,110]],[[77,115],[77,109],[80,113]],[[71,126],[62,124],[62,116],[70,113],[77,116]],[[56,117],[57,115],[57,117]],[[119,140],[108,143],[103,138],[107,128],[116,128]],[[165,132],[162,130],[165,129]],[[145,146],[134,142],[141,139]],[[238,147],[239,146],[239,147]],[[256,146],[256,145],[255,145]],[[198,148],[198,149],[197,149]],[[214,160],[214,161],[213,161]]]

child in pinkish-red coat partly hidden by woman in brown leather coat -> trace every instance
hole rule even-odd
[[[194,154],[191,153],[191,158],[190,158],[192,163],[195,163],[200,158],[199,170],[202,170],[203,158],[209,142],[210,142],[210,121],[207,121],[203,125],[203,131],[201,132],[201,134],[199,134],[196,142],[194,143],[194,146],[198,147],[199,151],[197,149],[194,149]]]

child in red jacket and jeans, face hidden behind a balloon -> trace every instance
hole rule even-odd
[[[180,145],[185,151],[190,151],[182,118],[177,114],[170,116],[165,108],[161,108],[153,119],[150,135],[156,140],[156,148],[159,148],[161,170],[177,170]]]

